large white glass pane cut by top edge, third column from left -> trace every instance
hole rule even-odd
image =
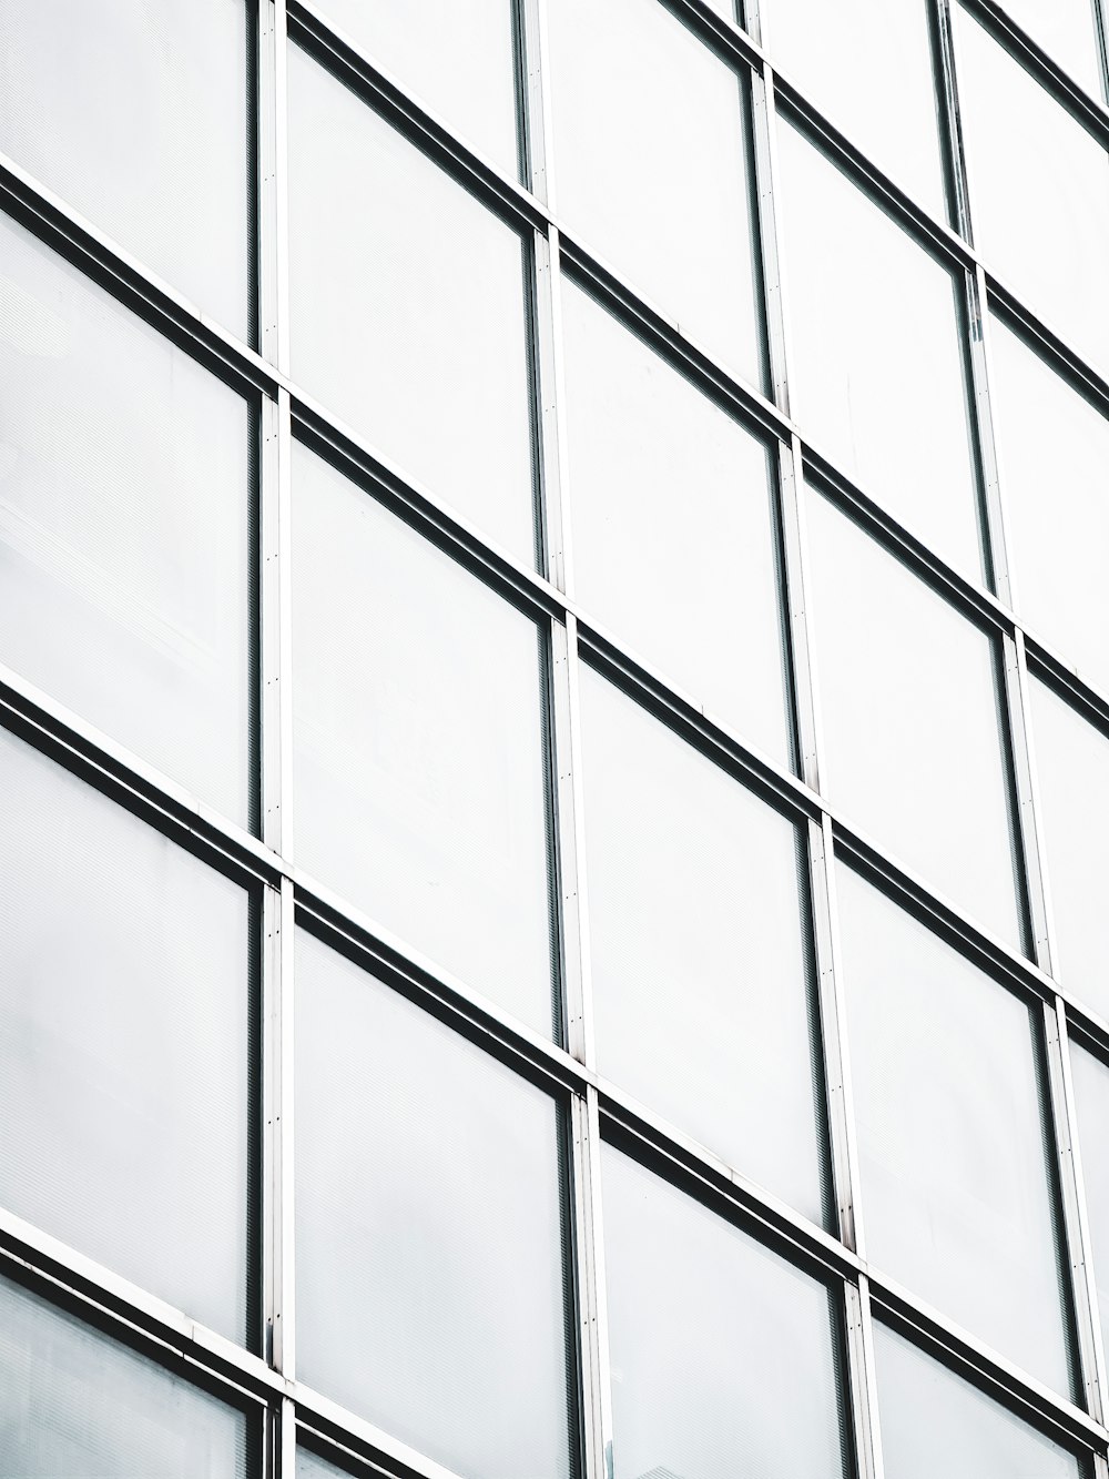
[[[552,0],[550,56],[568,229],[762,385],[745,78],[658,0]]]

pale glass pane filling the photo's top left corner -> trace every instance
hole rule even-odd
[[[248,30],[244,0],[0,0],[0,149],[241,339]]]

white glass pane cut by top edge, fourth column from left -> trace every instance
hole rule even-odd
[[[767,0],[770,52],[847,138],[948,219],[927,0]]]

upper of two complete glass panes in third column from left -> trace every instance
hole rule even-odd
[[[790,765],[767,448],[586,293],[562,302],[574,592]]]

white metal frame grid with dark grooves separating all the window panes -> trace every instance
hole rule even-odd
[[[445,1476],[445,1470],[379,1432],[373,1424],[305,1389],[294,1368],[293,1260],[293,1103],[291,1000],[293,926],[306,920],[337,929],[361,958],[386,979],[423,1000],[469,1035],[495,1046],[529,1077],[565,1096],[571,1112],[571,1202],[577,1321],[583,1377],[583,1472],[611,1479],[612,1417],[608,1389],[603,1247],[600,1232],[599,1152],[602,1136],[634,1146],[655,1170],[704,1197],[728,1216],[754,1226],[767,1242],[819,1268],[838,1281],[844,1299],[849,1414],[859,1473],[881,1475],[877,1433],[877,1389],[872,1365],[871,1306],[909,1330],[926,1349],[955,1370],[973,1375],[1048,1432],[1088,1452],[1100,1475],[1106,1467],[1109,1411],[1105,1352],[1091,1279],[1090,1233],[1078,1155],[1078,1128],[1071,1086],[1069,1038],[1076,1031],[1103,1056],[1109,1055],[1109,1023],[1097,1018],[1059,982],[1053,972],[1053,924],[1042,864],[1035,759],[1028,725],[1028,673],[1042,671],[1087,717],[1109,722],[1109,695],[1075,673],[1066,658],[1029,632],[1014,614],[1003,528],[989,395],[986,308],[1000,311],[1037,343],[1044,358],[1078,382],[1109,414],[1109,383],[1075,355],[1065,340],[1031,312],[983,262],[970,232],[966,167],[958,127],[957,59],[949,37],[951,3],[933,0],[940,35],[939,86],[945,109],[948,170],[954,182],[955,229],[933,220],[861,155],[838,130],[812,108],[803,93],[778,74],[759,37],[772,21],[772,0],[760,16],[748,0],[747,25],[725,21],[705,0],[665,3],[702,41],[732,64],[751,87],[753,157],[759,203],[759,241],[764,285],[764,317],[772,398],[736,380],[705,351],[691,343],[654,305],[642,300],[617,269],[590,251],[557,214],[556,175],[550,132],[549,68],[546,62],[546,0],[519,0],[522,43],[520,93],[528,185],[520,186],[475,155],[407,89],[373,59],[334,33],[308,0],[251,0],[259,28],[259,349],[243,345],[197,314],[167,284],[106,235],[89,226],[13,161],[0,157],[0,201],[50,246],[86,271],[108,280],[111,290],[143,318],[183,342],[201,361],[216,365],[262,407],[260,540],[262,540],[262,831],[254,837],[167,781],[154,768],[84,723],[47,695],[0,669],[0,717],[30,735],[64,763],[108,794],[126,799],[152,825],[231,871],[263,893],[262,1031],[265,1041],[263,1115],[263,1318],[262,1355],[253,1355],[195,1327],[186,1316],[61,1247],[53,1239],[0,1211],[0,1263],[28,1279],[52,1287],[58,1297],[80,1303],[92,1324],[180,1365],[237,1404],[265,1412],[266,1464],[272,1479],[293,1479],[296,1430],[324,1439],[336,1454],[371,1464],[365,1472]],[[646,0],[645,0],[646,3]],[[1010,21],[995,0],[961,0],[1013,52],[1041,86],[1109,146],[1109,112],[1091,99]],[[1102,65],[1105,67],[1105,16]],[[495,549],[476,528],[414,485],[370,442],[331,417],[291,380],[288,359],[288,228],[285,49],[290,31],[328,55],[346,78],[390,121],[531,238],[534,263],[535,420],[540,448],[540,522],[544,565],[537,574]],[[994,590],[973,586],[952,571],[911,531],[901,528],[866,490],[856,487],[803,427],[793,420],[788,377],[788,284],[782,284],[775,222],[775,117],[782,106],[847,173],[875,195],[895,219],[908,226],[940,260],[961,274],[966,294],[964,352],[970,367],[973,419],[983,485],[983,528],[989,546]],[[560,423],[559,282],[572,275],[614,314],[628,322],[658,352],[679,364],[691,380],[726,404],[745,422],[762,427],[778,448],[778,497],[782,525],[784,602],[800,776],[744,744],[741,735],[705,714],[696,700],[676,689],[664,674],[631,652],[583,611],[574,598],[571,535],[565,484],[568,467]],[[293,435],[324,447],[356,482],[399,509],[423,532],[458,553],[484,578],[523,605],[550,636],[550,728],[553,827],[557,879],[559,984],[565,1046],[544,1041],[484,1001],[472,989],[413,952],[404,941],[350,907],[305,874],[296,864],[291,836],[291,688],[290,649],[290,457]],[[932,581],[948,600],[992,632],[1003,651],[1005,716],[1013,751],[1013,787],[1022,839],[1022,873],[1028,895],[1034,957],[1025,960],[935,893],[898,859],[840,816],[821,796],[819,701],[810,663],[806,602],[806,538],[800,484],[809,476],[834,493],[868,532],[886,543],[912,569]],[[596,1071],[591,1037],[591,988],[583,849],[583,799],[577,673],[587,658],[609,677],[662,710],[679,732],[696,737],[729,772],[769,791],[776,805],[803,827],[809,855],[816,989],[828,1089],[828,1133],[835,1191],[837,1236],[793,1213],[688,1136],[651,1115]],[[936,1310],[914,1299],[866,1262],[858,1188],[858,1151],[850,1112],[850,1071],[837,973],[837,924],[832,856],[850,858],[893,898],[924,914],[945,938],[989,973],[1044,1006],[1050,1109],[1059,1149],[1063,1235],[1072,1268],[1078,1356],[1088,1412],[1045,1389]]]

